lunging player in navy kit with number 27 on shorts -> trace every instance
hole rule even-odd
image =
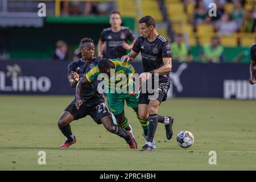
[[[79,82],[79,78],[97,65],[98,61],[101,59],[100,57],[93,57],[94,44],[92,39],[82,39],[80,51],[82,53],[81,59],[72,61],[68,65],[68,79],[72,87],[75,87],[77,82]],[[97,88],[98,80],[82,86],[79,98],[75,97],[75,100],[73,100],[61,114],[58,126],[61,133],[67,137],[67,140],[61,144],[60,147],[68,148],[71,144],[76,143],[76,137],[72,134],[69,123],[84,118],[86,115],[90,115],[98,125],[102,123],[109,132],[124,138],[130,148],[137,148],[137,143],[131,133],[123,130],[120,126],[114,125],[112,113],[110,113],[108,107],[105,105],[104,97],[98,92]],[[79,104],[77,104],[77,101],[79,101]]]

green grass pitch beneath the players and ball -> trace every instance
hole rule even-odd
[[[96,125],[90,117],[71,123],[77,143],[58,146],[65,137],[57,120],[72,96],[0,96],[0,170],[255,170],[255,101],[175,98],[163,102],[159,114],[172,115],[174,137],[167,140],[158,124],[157,149],[141,152],[142,127],[135,113],[125,113],[133,126],[138,150],[130,150],[120,137]],[[176,144],[176,135],[188,130],[192,147]],[[46,165],[38,152],[46,152]],[[217,152],[210,165],[209,151]]]

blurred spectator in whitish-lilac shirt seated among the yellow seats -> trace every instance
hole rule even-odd
[[[229,13],[225,13],[221,16],[221,20],[214,24],[214,28],[220,35],[229,35],[237,31],[237,24]]]

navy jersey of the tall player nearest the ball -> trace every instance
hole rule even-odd
[[[147,38],[139,36],[133,46],[133,51],[142,55],[144,72],[149,72],[162,67],[163,57],[172,57],[170,43],[160,34],[150,42]],[[159,76],[159,80],[170,80],[169,73]]]

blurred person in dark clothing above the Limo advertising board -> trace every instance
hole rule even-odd
[[[56,43],[56,49],[55,52],[52,54],[53,60],[68,60],[68,46],[67,43],[65,43],[63,40],[59,40]]]

